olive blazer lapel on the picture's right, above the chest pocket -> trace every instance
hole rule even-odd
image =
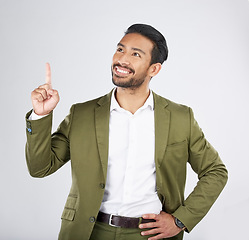
[[[168,102],[166,99],[154,95],[155,114],[155,162],[160,167],[168,142],[170,111],[166,109]]]

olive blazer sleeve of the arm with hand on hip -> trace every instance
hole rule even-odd
[[[173,215],[180,219],[190,232],[207,214],[224,188],[228,174],[216,150],[205,139],[189,108],[189,160],[198,174],[196,187]]]

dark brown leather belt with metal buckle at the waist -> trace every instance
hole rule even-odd
[[[117,216],[113,214],[106,214],[99,212],[97,217],[98,222],[104,222],[113,227],[122,227],[122,228],[138,228],[141,223],[155,222],[154,219],[143,219],[141,218],[130,218]]]

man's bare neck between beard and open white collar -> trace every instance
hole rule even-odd
[[[144,105],[150,95],[150,89],[147,86],[144,89],[127,89],[117,87],[115,97],[123,109],[134,114],[140,107]]]

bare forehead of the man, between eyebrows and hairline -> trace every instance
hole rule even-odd
[[[153,42],[139,33],[128,33],[121,40],[120,43],[126,48],[138,48],[145,53],[150,53],[154,46]]]

